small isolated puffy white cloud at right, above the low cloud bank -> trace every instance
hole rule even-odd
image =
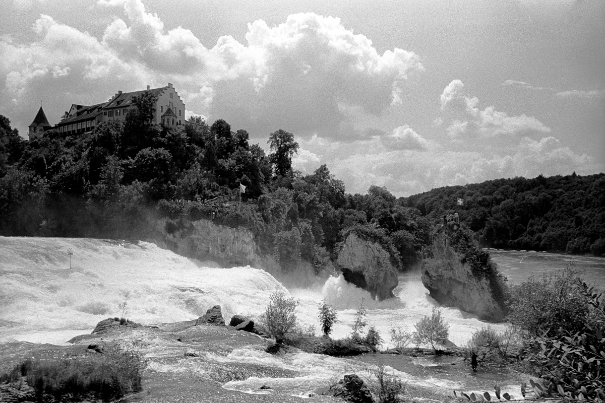
[[[508,116],[505,112],[496,111],[494,106],[480,110],[477,108],[479,98],[465,95],[464,83],[453,80],[440,96],[441,110],[451,111],[456,118],[445,129],[446,134],[457,139],[463,134],[479,134],[483,137],[525,134],[528,132],[548,133],[551,129],[534,117],[525,114]]]

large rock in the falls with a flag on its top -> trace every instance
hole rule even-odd
[[[481,320],[502,322],[508,312],[506,277],[471,231],[443,225],[433,237],[433,258],[422,264],[422,284],[443,306],[456,306]]]

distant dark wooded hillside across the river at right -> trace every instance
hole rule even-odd
[[[457,205],[457,199],[463,205]],[[431,222],[459,213],[486,246],[605,254],[605,175],[495,179],[404,199]]]

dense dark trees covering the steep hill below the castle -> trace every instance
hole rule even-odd
[[[149,239],[157,218],[171,219],[169,232],[183,218],[212,218],[248,227],[283,269],[330,265],[351,231],[380,242],[400,269],[422,259],[431,225],[416,208],[376,186],[347,194],[325,165],[296,172],[293,134],[269,134],[266,155],[224,120],[151,123],[153,105],[146,92],[124,121],[31,141],[0,117],[0,235]],[[241,208],[208,203],[240,184]]]

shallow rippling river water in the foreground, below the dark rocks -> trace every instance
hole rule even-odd
[[[323,394],[330,385],[347,373],[356,373],[365,382],[371,382],[370,370],[381,364],[391,367],[389,372],[405,382],[405,396],[410,401],[413,398],[427,402],[454,401],[453,389],[491,390],[494,382],[493,375],[485,379],[473,375],[460,354],[420,357],[424,361],[391,353],[368,353],[352,359],[311,354],[289,347],[272,355],[266,352],[274,343],[272,340],[237,331],[231,326],[195,326],[195,321],[118,326],[81,335],[70,342],[69,346],[27,342],[2,344],[0,373],[27,358],[87,359],[117,346],[140,355],[144,366],[143,390],[124,399],[130,402],[274,403],[292,402],[293,399],[338,402],[341,399]],[[443,361],[445,357],[449,358]],[[427,364],[433,359],[437,364]],[[475,381],[468,382],[473,378]],[[525,376],[511,371],[506,372],[505,378],[500,375],[497,378],[503,388],[526,380]],[[0,401],[11,401],[14,397],[6,390],[0,391]]]

